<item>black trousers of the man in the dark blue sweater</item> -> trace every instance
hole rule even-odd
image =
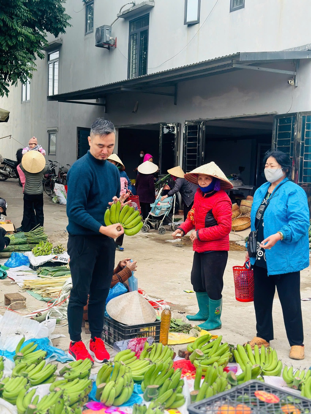
[[[73,342],[81,340],[83,306],[88,304],[91,337],[102,337],[106,299],[114,271],[116,245],[107,236],[68,236],[73,287],[68,303],[68,330]]]

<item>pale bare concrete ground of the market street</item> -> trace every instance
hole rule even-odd
[[[20,226],[23,214],[22,188],[17,181],[7,180],[0,183],[0,197],[5,198],[8,204],[7,217],[14,222],[16,227]],[[44,227],[51,241],[63,243],[67,242],[66,232],[67,216],[66,206],[53,204],[48,196],[44,195]],[[243,232],[243,237],[248,234],[248,230]],[[231,240],[242,239],[240,234],[231,235]],[[189,238],[183,239],[180,243],[169,243],[170,232],[160,236],[157,231],[150,233],[138,233],[131,238],[124,239],[124,253],[116,252],[116,262],[122,258],[133,258],[138,261],[136,277],[138,277],[139,287],[146,291],[149,296],[164,299],[172,303],[171,309],[175,318],[182,315],[178,312],[196,313],[197,301],[194,293],[186,293],[185,290],[192,290],[190,282],[190,272],[192,267],[192,244]],[[214,331],[217,335],[223,335],[224,340],[231,344],[243,344],[255,336],[255,312],[253,302],[241,303],[236,301],[233,284],[232,267],[243,265],[245,253],[241,251],[230,251],[228,264],[224,274],[223,290],[223,311],[222,328]],[[310,267],[301,272],[301,298],[311,298]],[[0,313],[5,312],[3,294],[21,291],[19,286],[11,284],[10,279],[0,280],[2,296],[0,296]],[[41,308],[43,302],[37,301],[32,296],[27,295],[27,305],[30,311]],[[289,359],[289,344],[284,329],[282,309],[275,295],[273,318],[275,327],[275,339],[271,346],[275,347],[277,354],[283,363],[292,364],[295,368],[309,367],[311,365],[311,301],[302,301],[302,312],[304,317],[304,337],[305,337],[305,360],[294,361]],[[28,313],[29,310],[22,310]],[[54,346],[65,351],[68,350],[69,337],[68,327],[56,325],[54,333],[62,333],[66,338],[53,340]],[[83,332],[85,343],[90,340],[90,335]],[[185,346],[176,347],[176,349]]]

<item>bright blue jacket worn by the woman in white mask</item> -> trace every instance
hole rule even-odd
[[[305,191],[288,178],[270,195],[270,203],[263,215],[264,236],[281,231],[284,239],[271,250],[267,249],[268,274],[299,272],[309,266],[309,206]],[[270,183],[262,184],[254,194],[250,213],[251,230],[255,230],[255,216]],[[262,242],[262,240],[258,240]],[[256,258],[250,258],[255,264]]]

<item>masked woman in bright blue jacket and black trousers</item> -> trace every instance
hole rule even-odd
[[[300,271],[309,266],[309,207],[305,191],[289,181],[291,173],[292,162],[287,154],[274,150],[266,154],[268,182],[256,190],[250,214],[251,230],[258,227],[258,233],[257,255],[250,258],[257,335],[249,343],[252,349],[255,344],[270,346],[277,288],[291,346],[289,358],[304,359]]]

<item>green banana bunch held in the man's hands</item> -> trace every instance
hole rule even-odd
[[[138,210],[126,204],[121,209],[121,203],[117,201],[107,208],[104,215],[104,223],[106,226],[120,223],[124,228],[126,236],[134,236],[143,226],[142,217]]]

